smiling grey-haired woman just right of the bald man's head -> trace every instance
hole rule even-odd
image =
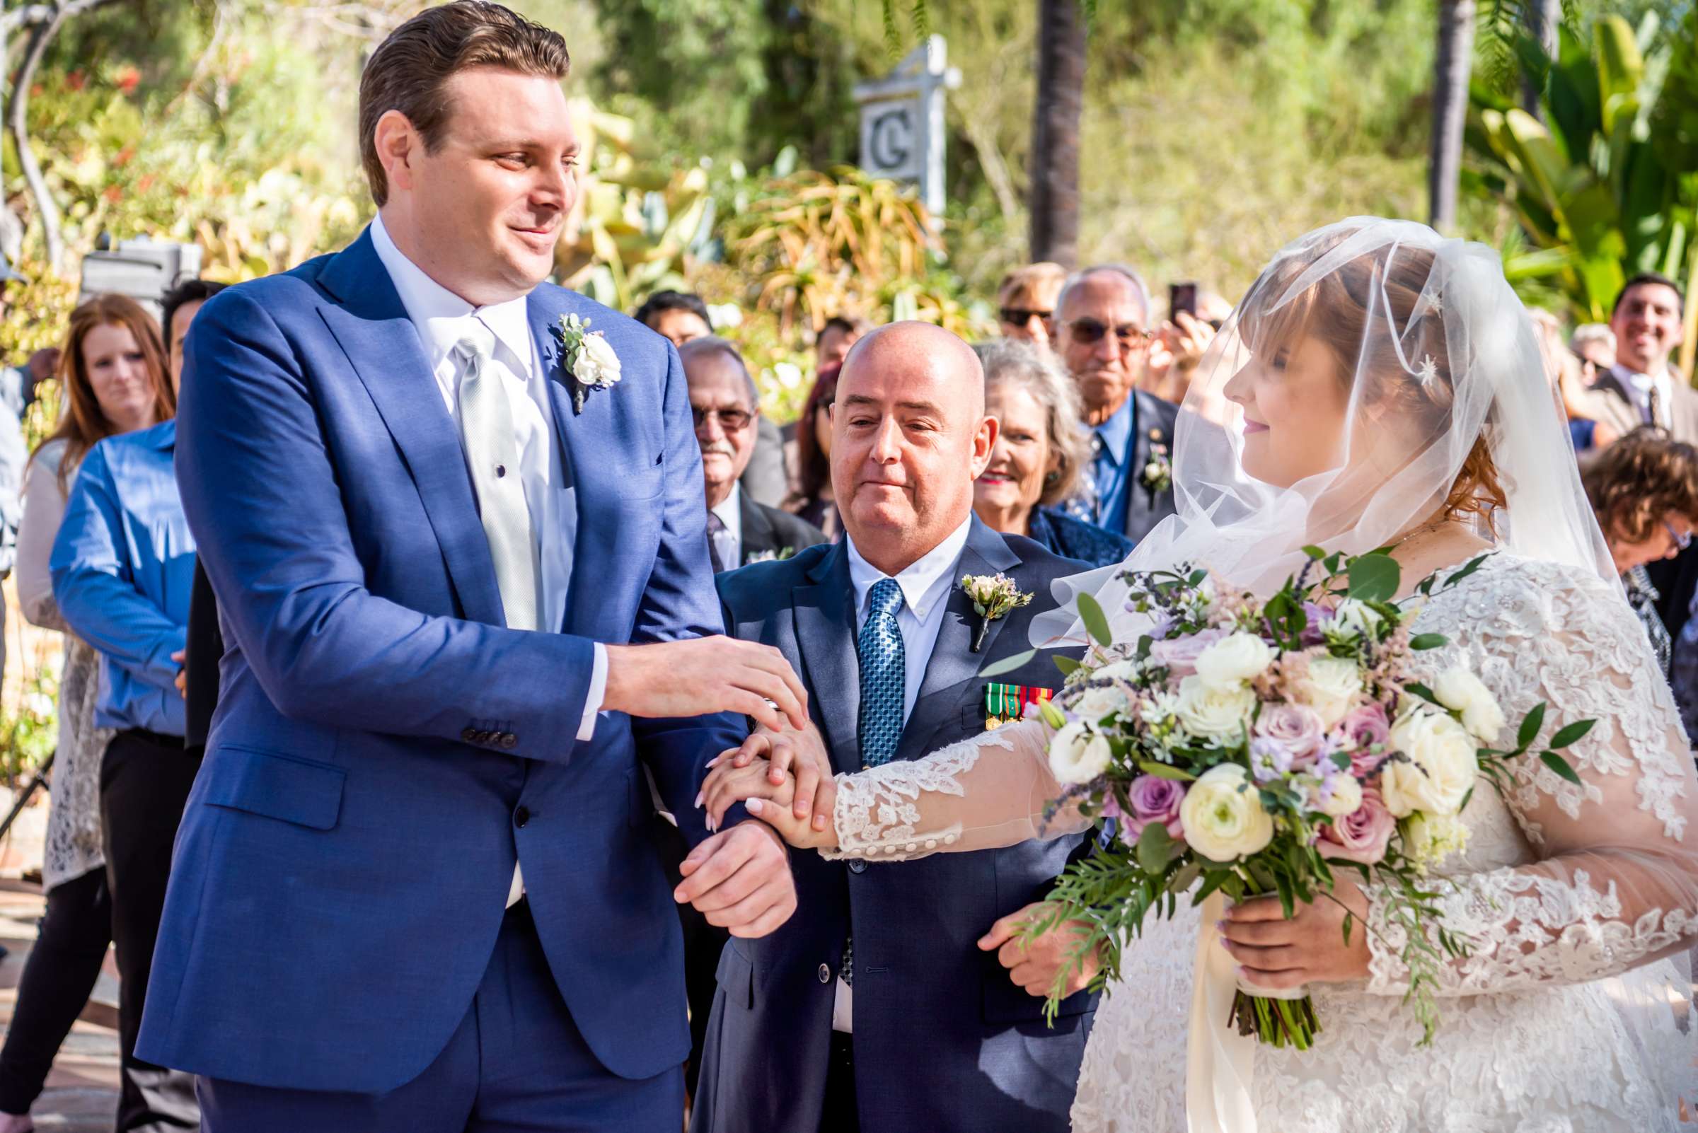
[[[973,511],[992,531],[1024,534],[1061,558],[1119,563],[1133,541],[1068,516],[1061,502],[1090,458],[1078,390],[1046,349],[1005,338],[973,348],[985,366],[985,412],[997,446],[973,483]]]

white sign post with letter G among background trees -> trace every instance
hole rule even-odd
[[[931,36],[890,75],[856,83],[861,103],[861,168],[873,176],[915,181],[920,200],[944,210],[944,92],[961,85],[947,64],[942,36]]]

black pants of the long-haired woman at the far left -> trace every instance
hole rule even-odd
[[[110,943],[105,870],[88,870],[48,890],[48,914],[17,982],[12,1030],[0,1050],[0,1113],[29,1113],[41,1096],[59,1043],[100,979]]]

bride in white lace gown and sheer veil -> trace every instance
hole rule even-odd
[[[1121,568],[1073,580],[1110,612],[1117,641],[1141,631],[1124,612],[1126,568],[1207,565],[1267,594],[1304,544],[1391,546],[1408,595],[1496,551],[1425,602],[1416,629],[1450,645],[1418,665],[1430,677],[1465,660],[1511,721],[1547,702],[1545,738],[1596,726],[1567,750],[1579,785],[1527,756],[1506,797],[1474,792],[1467,848],[1435,870],[1443,919],[1472,950],[1442,974],[1431,1045],[1403,1006],[1404,941],[1374,887],[1340,873],[1336,896],[1372,929],[1348,943],[1328,901],[1290,921],[1251,901],[1217,926],[1180,902],[1124,950],[1075,1130],[1674,1130],[1698,1086],[1681,970],[1698,935],[1698,784],[1498,253],[1409,222],[1319,229],[1274,258],[1211,353],[1178,424],[1178,516]],[[1077,624],[1043,634],[1082,641]],[[705,797],[715,819],[752,799],[751,812],[827,857],[1005,846],[1083,826],[1077,812],[1043,818],[1061,794],[1046,741],[1027,719],[839,775],[832,821],[813,828],[784,806],[793,782],[774,785],[759,762],[717,767]],[[1234,968],[1311,989],[1313,1050],[1228,1033]]]

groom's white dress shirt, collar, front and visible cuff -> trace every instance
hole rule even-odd
[[[531,339],[525,297],[504,304],[472,307],[424,270],[408,260],[384,229],[384,217],[372,220],[372,248],[389,271],[401,295],[408,319],[419,332],[424,358],[436,377],[443,405],[460,434],[460,377],[462,366],[455,346],[465,338],[472,322],[481,322],[496,336],[496,353],[491,360],[501,375],[501,388],[508,393],[513,412],[513,433],[520,453],[520,480],[525,485],[525,502],[531,517],[531,539],[538,561],[538,624],[559,633],[565,624],[565,592],[572,580],[572,548],[577,541],[577,494],[565,482],[565,465],[554,436],[554,405],[548,400],[548,378],[537,358]],[[464,443],[464,441],[462,441]],[[589,740],[596,731],[596,712],[608,689],[608,651],[596,643],[594,670],[589,677],[589,695],[584,697],[584,717],[577,740]]]

